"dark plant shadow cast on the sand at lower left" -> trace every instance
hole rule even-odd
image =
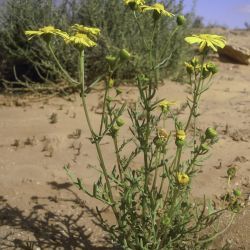
[[[0,231],[4,230],[4,236],[0,236],[0,249],[86,249],[86,250],[118,250],[114,247],[95,246],[91,242],[93,232],[89,232],[82,219],[85,216],[92,217],[92,223],[102,227],[95,219],[96,212],[80,200],[70,187],[70,183],[48,183],[53,189],[66,189],[75,198],[60,199],[53,197],[32,197],[34,203],[28,214],[17,207],[12,207],[8,201],[0,196]],[[69,202],[71,205],[80,206],[79,210],[72,214],[58,214],[47,208],[47,202]],[[58,204],[58,205],[59,205]],[[81,225],[79,223],[81,221]],[[2,229],[1,229],[2,228]],[[7,228],[7,230],[5,229]],[[13,237],[13,232],[22,232],[24,235],[31,235],[32,240]],[[15,239],[16,238],[16,239]],[[17,239],[18,238],[18,239]],[[101,245],[111,245],[110,241],[104,238]],[[100,242],[99,242],[100,245]]]

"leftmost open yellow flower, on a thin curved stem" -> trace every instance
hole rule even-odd
[[[45,26],[45,27],[40,28],[38,30],[26,30],[24,33],[26,36],[29,37],[28,40],[30,40],[36,36],[41,36],[45,40],[50,39],[52,35],[59,35],[62,37],[67,36],[67,33],[65,33],[59,29],[56,29],[54,26]]]

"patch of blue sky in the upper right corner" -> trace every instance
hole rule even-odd
[[[184,0],[185,10],[190,10],[193,0]],[[245,28],[250,24],[250,0],[196,0],[195,13],[205,24],[219,24],[228,28]]]

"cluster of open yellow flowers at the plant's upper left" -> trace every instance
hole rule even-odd
[[[45,26],[38,30],[27,30],[25,35],[29,37],[29,40],[33,37],[42,37],[46,42],[49,42],[52,36],[59,36],[66,43],[74,44],[79,49],[96,46],[95,40],[100,35],[100,29],[81,24],[75,24],[71,28],[73,34],[56,29],[54,26]]]

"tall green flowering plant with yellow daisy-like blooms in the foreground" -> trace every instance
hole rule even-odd
[[[217,73],[217,67],[207,61],[207,55],[216,52],[218,47],[223,48],[225,39],[210,34],[185,38],[189,44],[198,44],[199,52],[197,57],[185,62],[192,95],[187,99],[189,114],[186,120],[181,120],[172,110],[174,102],[157,98],[159,70],[164,67],[169,55],[163,55],[162,61],[157,61],[159,51],[156,41],[160,32],[160,18],[176,18],[176,32],[186,21],[185,17],[175,17],[161,3],[146,5],[144,0],[125,0],[124,4],[134,14],[140,30],[139,42],[145,48],[145,53],[140,56],[148,58],[150,67],[145,72],[138,72],[135,78],[138,102],[130,106],[126,102],[118,104],[114,98],[119,98],[122,91],[116,87],[116,72],[125,63],[133,63],[138,55],[124,48],[115,55],[107,55],[107,74],[99,81],[105,84],[105,94],[98,131],[92,126],[86,103],[86,96],[93,84],[86,86],[84,82],[84,51],[97,45],[100,30],[75,24],[68,33],[53,26],[25,32],[29,38],[41,37],[69,81],[81,85],[85,121],[89,127],[90,141],[96,147],[100,176],[93,183],[93,189],[89,190],[81,178],[75,177],[69,166],[65,169],[80,190],[112,210],[114,225],[104,220],[97,208],[98,219],[115,246],[126,250],[205,249],[232,223],[232,219],[229,219],[228,225],[220,231],[217,227],[219,217],[225,211],[231,211],[230,218],[233,218],[240,206],[239,190],[228,191],[216,207],[205,198],[196,201],[191,196],[193,178],[200,171],[213,144],[218,141],[214,128],[201,131],[196,123],[200,115],[201,96]],[[151,39],[145,38],[140,25],[145,15],[152,15],[152,26],[148,27],[152,29]],[[51,46],[55,37],[63,39],[78,51],[78,80],[72,79],[57,60]],[[167,37],[166,41],[161,42],[170,40],[171,37]],[[129,117],[130,121],[125,117]],[[120,139],[122,126],[129,127],[131,138]],[[101,142],[106,137],[110,137],[114,144],[113,169],[107,168],[103,157]],[[125,148],[130,150],[129,153],[124,153]],[[140,159],[137,166],[133,164],[135,159]]]

